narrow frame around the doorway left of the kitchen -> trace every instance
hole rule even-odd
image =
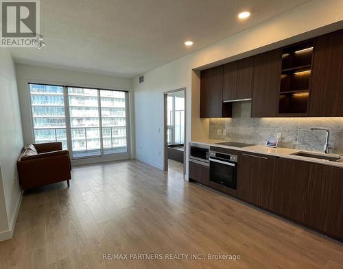
[[[184,88],[179,88],[176,90],[168,90],[166,92],[163,92],[163,126],[164,126],[164,133],[163,133],[163,170],[167,171],[168,170],[168,139],[167,139],[167,131],[168,131],[168,126],[167,126],[167,96],[169,93],[173,92],[184,92],[184,106],[185,106],[185,113],[184,113],[184,126],[183,126],[183,176],[185,177],[186,175],[186,130],[187,130],[187,89],[186,87]]]

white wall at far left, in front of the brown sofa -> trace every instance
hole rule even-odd
[[[14,62],[0,49],[0,241],[12,236],[21,201],[16,160],[23,148]]]

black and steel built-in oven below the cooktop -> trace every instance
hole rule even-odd
[[[237,189],[237,155],[218,151],[209,152],[210,181]]]

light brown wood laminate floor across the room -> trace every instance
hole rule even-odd
[[[342,268],[341,244],[183,181],[173,165],[163,172],[130,160],[72,172],[70,188],[24,194],[14,237],[0,242],[0,268]],[[204,259],[181,259],[191,253]],[[217,253],[241,258],[207,259]]]

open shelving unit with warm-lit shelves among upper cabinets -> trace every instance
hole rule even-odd
[[[307,115],[313,41],[285,47],[282,55],[279,115]]]

